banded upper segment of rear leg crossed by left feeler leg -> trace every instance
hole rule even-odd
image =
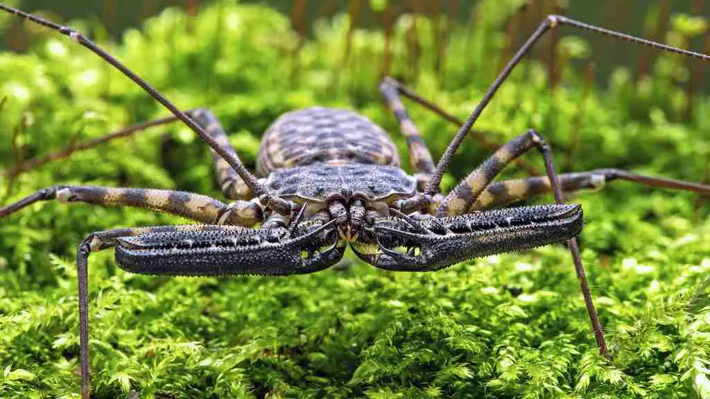
[[[212,114],[212,111],[209,111],[209,109],[195,109],[195,111],[190,111],[188,115],[197,125],[204,129],[214,141],[219,143],[222,148],[232,153],[234,158],[239,158],[234,148],[232,148],[231,143],[229,143],[229,138],[227,138],[222,124],[219,123],[217,116]],[[246,185],[244,180],[241,180],[241,177],[236,174],[234,168],[214,151],[214,149],[209,148],[209,152],[212,153],[214,168],[217,171],[217,184],[219,188],[222,189],[222,192],[224,192],[224,195],[231,200],[251,200],[253,198],[251,189],[249,189],[249,186]]]

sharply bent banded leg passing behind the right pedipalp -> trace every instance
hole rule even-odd
[[[493,153],[491,158],[488,158],[488,160],[461,181],[459,185],[444,198],[444,201],[439,204],[436,211],[437,216],[457,216],[466,213],[466,210],[471,209],[481,192],[491,183],[491,180],[493,180],[506,165],[525,153],[525,151],[530,150],[530,148],[537,148],[540,153],[542,153],[542,158],[545,159],[547,177],[552,183],[552,192],[555,195],[555,202],[558,205],[564,204],[564,200],[562,199],[562,187],[560,187],[559,178],[555,172],[555,164],[552,159],[552,149],[545,143],[545,139],[542,138],[540,134],[531,129],[501,147],[496,153]],[[572,237],[568,239],[567,245],[569,246],[569,251],[572,253],[572,261],[577,271],[577,280],[579,280],[581,293],[584,297],[587,312],[589,313],[591,329],[594,332],[596,344],[599,346],[599,353],[602,356],[608,356],[606,339],[604,339],[601,323],[599,323],[599,317],[596,315],[594,302],[591,299],[589,283],[587,283],[586,280],[586,272],[584,271],[584,266],[581,264],[577,238]]]

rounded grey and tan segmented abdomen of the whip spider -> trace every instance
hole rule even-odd
[[[313,107],[291,111],[269,126],[261,141],[259,175],[314,163],[399,166],[388,134],[352,111]]]

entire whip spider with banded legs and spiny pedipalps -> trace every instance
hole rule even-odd
[[[87,202],[179,214],[201,224],[114,229],[90,234],[77,250],[80,307],[82,398],[89,397],[87,262],[89,253],[115,248],[116,262],[151,275],[292,275],[313,273],[338,263],[349,244],[361,259],[387,270],[439,270],[493,253],[567,240],[597,344],[607,355],[601,325],[575,237],[581,207],[564,204],[563,191],[599,188],[621,178],[648,185],[710,194],[710,186],[604,169],[557,175],[550,146],[527,131],[504,144],[448,195],[439,193],[444,170],[498,87],[532,45],[559,24],[631,40],[682,55],[692,53],[622,33],[548,16],[503,69],[438,165],[409,119],[400,95],[443,111],[386,78],[380,90],[400,122],[413,175],[399,168],[391,139],[381,128],[351,111],[310,108],[281,116],[263,137],[257,170],[244,168],[217,118],[206,109],[182,112],[89,39],[70,28],[0,4],[0,9],[53,28],[89,48],[146,89],[197,133],[210,148],[224,204],[204,195],[170,190],[58,185],[0,208],[0,217],[38,200]],[[445,115],[449,120],[452,116]],[[157,122],[156,122],[157,123]],[[153,123],[155,124],[155,123]],[[148,126],[145,124],[143,126]],[[137,129],[132,128],[133,132]],[[111,135],[111,138],[124,136]],[[493,182],[498,173],[530,149],[545,159],[546,177]],[[65,155],[71,151],[65,152]],[[52,157],[49,157],[52,158]],[[58,158],[58,157],[55,157]],[[261,177],[261,178],[259,178]],[[488,210],[528,195],[552,192],[556,204]]]

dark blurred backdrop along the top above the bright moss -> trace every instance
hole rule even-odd
[[[29,11],[48,11],[56,21],[72,18],[92,18],[102,23],[107,31],[118,38],[129,27],[138,26],[148,16],[155,15],[167,6],[181,6],[188,12],[199,9],[212,1],[205,0],[102,0],[102,1],[53,1],[23,0],[20,4]],[[386,25],[388,18],[395,19],[406,13],[418,13],[430,18],[449,18],[458,23],[475,24],[477,18],[475,0],[243,0],[244,4],[264,4],[273,6],[290,16],[294,28],[312,35],[313,23],[322,18],[332,18],[338,13],[349,13],[355,26],[378,29]],[[694,16],[710,15],[710,5],[704,0],[528,0],[508,1],[509,4],[524,4],[524,10],[511,18],[508,33],[512,36],[512,47],[523,43],[532,30],[547,13],[562,13],[605,28],[615,29],[645,38],[664,41],[672,26],[672,18],[679,13]],[[443,23],[442,23],[443,24]],[[696,30],[697,31],[697,30]],[[631,67],[638,75],[648,72],[648,66],[657,53],[640,46],[627,46],[586,32],[575,32],[582,38],[591,39],[595,45],[593,60],[594,75],[598,82],[618,65]],[[674,40],[671,40],[671,42]],[[709,53],[709,33],[697,31],[682,40],[686,48]],[[3,43],[6,48],[23,50],[28,41],[6,33]],[[681,44],[681,43],[677,43]],[[547,52],[549,53],[549,52]],[[549,54],[538,50],[537,55],[549,62]],[[464,53],[452,57],[465,57]],[[691,61],[689,61],[691,62]],[[705,67],[700,62],[697,75],[703,76]],[[710,89],[710,79],[698,82],[684,82],[689,86]]]

